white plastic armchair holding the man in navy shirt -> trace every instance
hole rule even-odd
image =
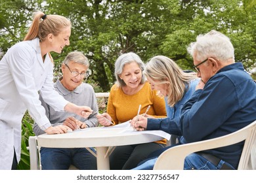
[[[238,170],[255,169],[256,121],[238,131],[235,131],[234,133],[224,135],[223,137],[182,144],[169,148],[159,156],[154,165],[154,170],[183,170],[184,159],[193,152],[228,146],[244,140],[245,143],[239,161]]]

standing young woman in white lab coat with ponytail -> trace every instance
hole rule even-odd
[[[66,101],[53,88],[53,60],[69,45],[71,23],[58,15],[35,12],[24,41],[18,42],[0,61],[0,169],[16,169],[20,161],[21,123],[26,110],[48,134],[66,133],[68,127],[51,126],[39,93],[55,110],[74,112],[84,118],[91,108]]]

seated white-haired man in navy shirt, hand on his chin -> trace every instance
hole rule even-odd
[[[201,81],[182,107],[180,144],[228,135],[255,121],[256,84],[242,63],[235,63],[230,39],[213,30],[199,35],[188,52]],[[161,124],[166,122],[168,119],[163,119]],[[175,130],[173,123],[169,133]],[[237,169],[243,147],[244,142],[239,142],[190,154],[184,161],[184,169]],[[157,157],[167,148],[151,154],[136,169],[152,169]]]

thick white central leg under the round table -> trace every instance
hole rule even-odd
[[[106,156],[106,158],[104,157],[107,150],[108,150],[108,147],[96,147],[98,170],[109,170],[110,169],[109,156]]]

